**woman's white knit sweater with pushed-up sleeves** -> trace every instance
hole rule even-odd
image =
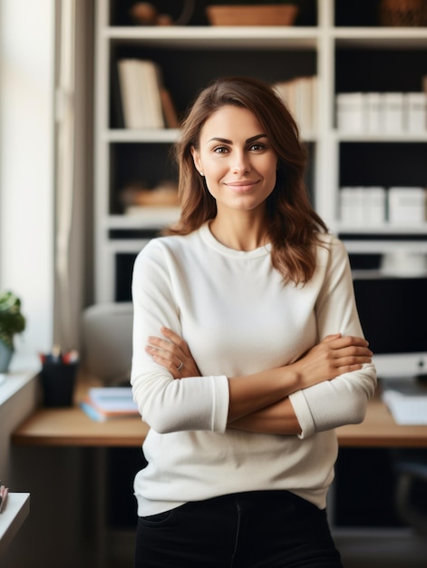
[[[131,384],[150,432],[148,465],[134,483],[138,514],[262,489],[287,489],[325,507],[334,428],[363,420],[373,365],[291,395],[301,436],[227,429],[227,377],[292,363],[328,334],[362,335],[345,247],[331,235],[322,239],[304,287],[284,286],[268,246],[230,250],[208,224],[141,250],[132,283]],[[185,338],[202,377],[174,380],[145,353],[161,326]]]

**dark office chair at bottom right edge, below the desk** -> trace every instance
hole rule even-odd
[[[427,450],[393,450],[394,503],[405,524],[427,534]]]

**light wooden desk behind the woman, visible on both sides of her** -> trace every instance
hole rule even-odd
[[[95,422],[78,406],[40,408],[15,430],[18,446],[141,446],[149,426],[140,418]],[[399,426],[376,396],[369,401],[363,424],[337,429],[340,446],[427,447],[427,426]]]

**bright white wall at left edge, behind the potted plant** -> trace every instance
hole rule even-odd
[[[22,357],[53,340],[53,56],[54,0],[0,0],[0,289],[23,301]]]

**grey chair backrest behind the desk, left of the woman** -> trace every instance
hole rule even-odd
[[[82,367],[106,385],[129,382],[131,302],[95,304],[82,313]]]

